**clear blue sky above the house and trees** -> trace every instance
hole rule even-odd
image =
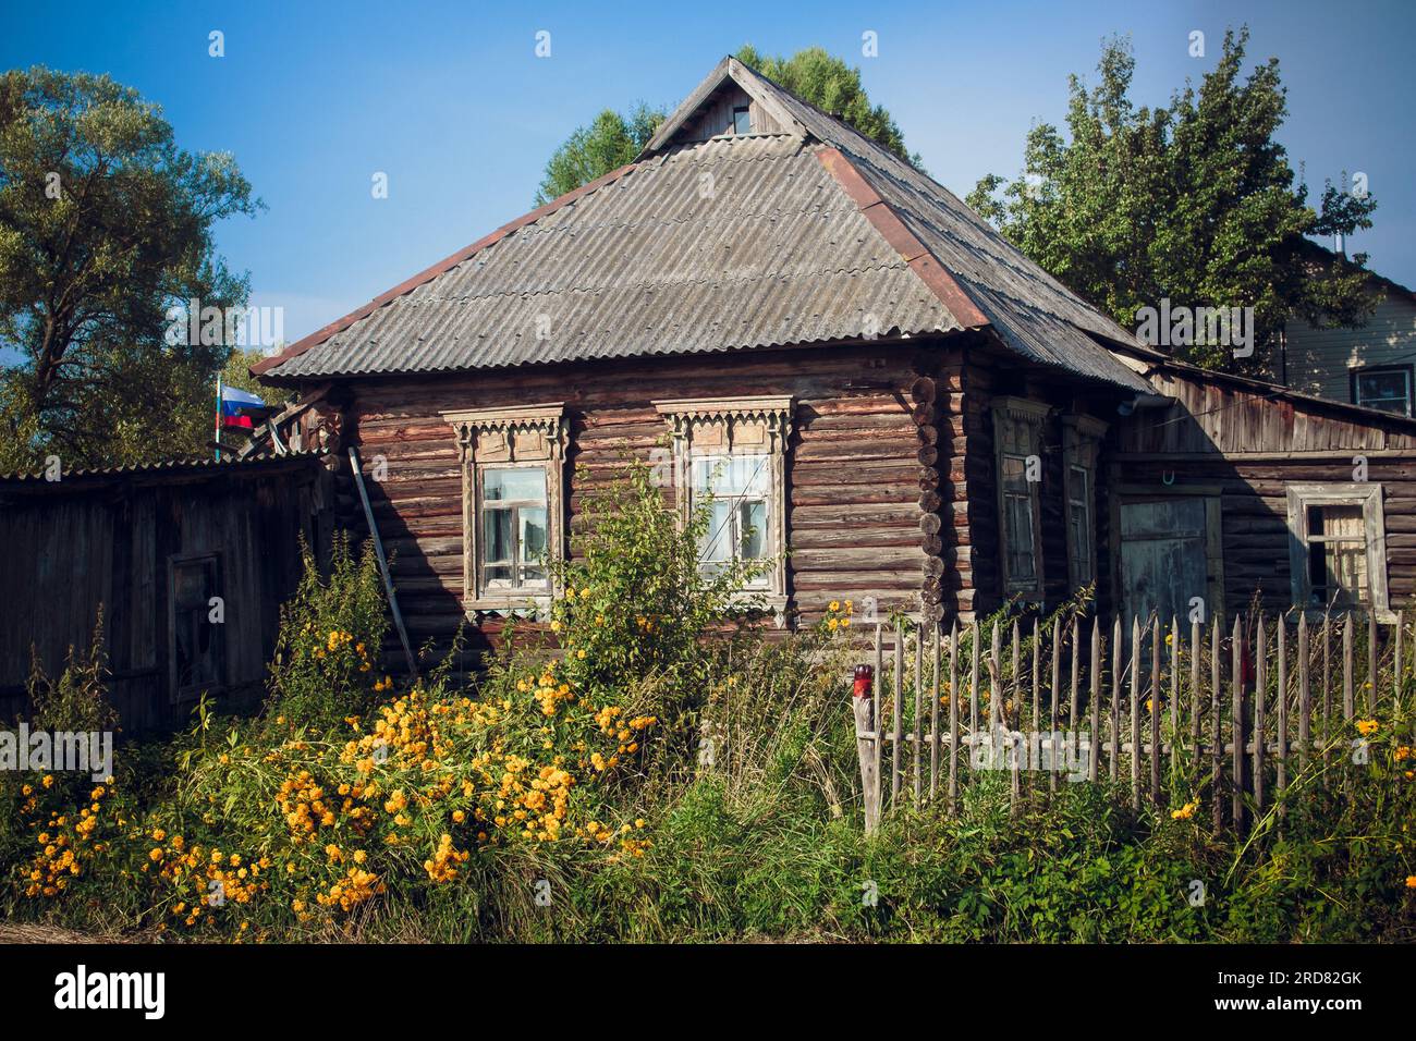
[[[1164,103],[1214,68],[1229,25],[1276,55],[1280,133],[1314,194],[1368,174],[1376,227],[1349,242],[1416,286],[1416,4],[1279,3],[71,3],[11,4],[0,68],[109,72],[163,106],[190,150],[234,152],[269,210],[218,229],[286,339],[340,317],[531,208],[547,157],[606,106],[673,105],[726,52],[818,44],[858,64],[936,180],[1017,174],[1069,72],[1130,35],[1133,96]],[[1206,57],[1188,55],[1192,30]],[[208,57],[208,33],[225,57]],[[535,34],[551,33],[537,58]],[[861,57],[875,31],[879,55]],[[1095,76],[1093,76],[1095,79]],[[388,198],[371,195],[375,171]]]

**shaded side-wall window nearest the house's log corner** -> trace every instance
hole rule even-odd
[[[1042,531],[1038,486],[1042,480],[1042,422],[1048,405],[995,398],[993,435],[998,474],[998,537],[1007,593],[1042,596]]]

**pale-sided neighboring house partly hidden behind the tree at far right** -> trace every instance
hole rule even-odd
[[[1314,329],[1294,320],[1286,334],[1287,377],[1280,351],[1269,378],[1304,394],[1354,402],[1354,368],[1416,363],[1416,300],[1389,288],[1365,326]]]

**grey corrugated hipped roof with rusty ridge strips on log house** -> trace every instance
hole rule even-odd
[[[675,122],[715,76],[789,115],[790,130],[675,143]],[[255,371],[438,372],[987,324],[1029,361],[1150,389],[1092,339],[1129,333],[892,153],[733,59],[690,102],[636,163]],[[850,169],[833,167],[833,152]]]

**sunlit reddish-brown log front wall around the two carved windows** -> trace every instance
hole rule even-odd
[[[922,493],[937,484],[925,470],[937,462],[922,466],[923,435],[910,395],[926,370],[957,387],[942,351],[881,343],[355,384],[347,431],[367,470],[379,457],[388,466],[385,480],[370,483],[370,496],[395,554],[409,636],[418,644],[432,637],[438,653],[463,616],[462,476],[452,428],[439,411],[555,401],[566,402],[571,419],[573,542],[585,524],[586,497],[613,480],[626,457],[649,462],[656,446],[667,445],[668,429],[653,401],[793,395],[787,537],[794,606],[813,619],[833,599],[861,603],[875,596],[881,612],[916,610],[926,578]],[[343,491],[341,503],[343,516],[351,516]],[[967,537],[957,524],[949,530],[954,540]],[[957,574],[967,582],[967,568]],[[472,646],[484,647],[498,632],[487,620]]]

